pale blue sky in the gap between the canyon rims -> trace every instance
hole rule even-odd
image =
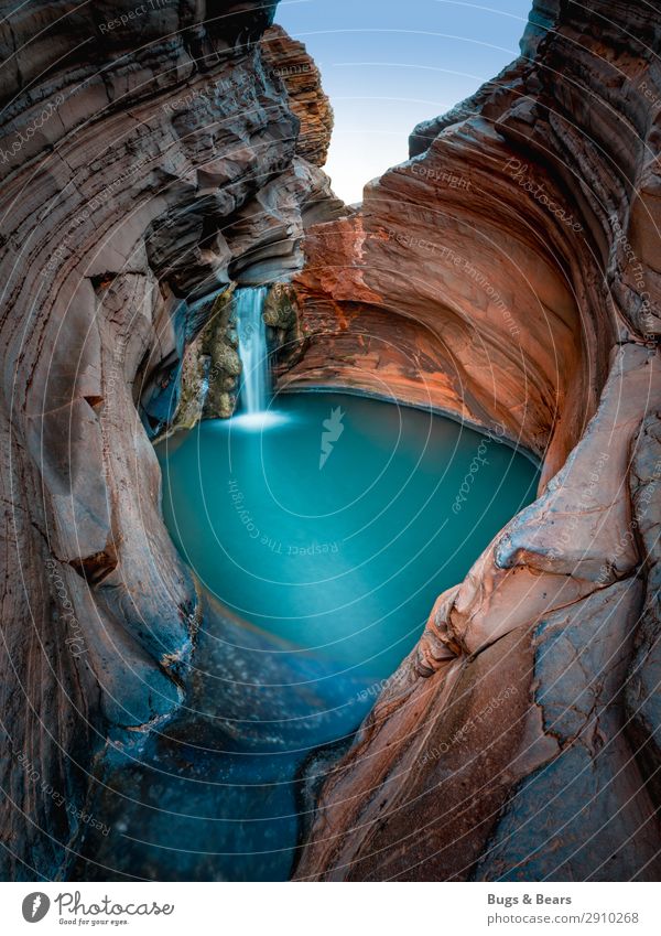
[[[335,111],[326,171],[337,194],[408,157],[415,123],[448,110],[519,54],[531,0],[281,0]]]

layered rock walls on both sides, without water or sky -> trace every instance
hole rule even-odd
[[[71,875],[104,764],[185,702],[203,607],[152,441],[231,415],[229,298],[278,280],[281,391],[432,408],[542,466],[311,756],[293,876],[658,880],[659,11],[535,0],[521,57],[358,208],[275,12],[1,28],[3,876]]]

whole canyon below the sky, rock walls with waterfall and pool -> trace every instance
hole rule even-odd
[[[277,3],[107,6],[0,26],[2,879],[659,880],[658,10],[349,205]]]

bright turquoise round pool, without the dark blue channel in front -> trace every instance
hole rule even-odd
[[[159,450],[182,556],[237,615],[383,677],[434,599],[533,498],[537,471],[498,440],[342,394],[281,396]]]

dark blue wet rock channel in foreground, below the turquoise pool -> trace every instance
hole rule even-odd
[[[203,601],[185,704],[141,742],[109,750],[89,806],[99,826],[86,827],[73,879],[291,876],[301,761],[351,736],[368,681]]]

